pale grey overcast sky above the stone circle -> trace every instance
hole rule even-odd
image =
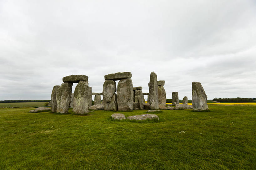
[[[0,100],[50,100],[72,74],[102,92],[125,71],[143,92],[154,71],[167,98],[191,99],[193,81],[256,97],[256,1],[0,0]]]

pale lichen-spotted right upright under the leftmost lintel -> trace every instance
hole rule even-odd
[[[90,90],[91,88],[88,86],[87,81],[79,81],[75,88],[73,99],[73,112],[75,114],[89,113],[89,103],[92,100]]]

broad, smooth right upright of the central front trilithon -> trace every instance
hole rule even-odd
[[[132,79],[122,79],[117,85],[118,110],[133,110],[133,81]]]

